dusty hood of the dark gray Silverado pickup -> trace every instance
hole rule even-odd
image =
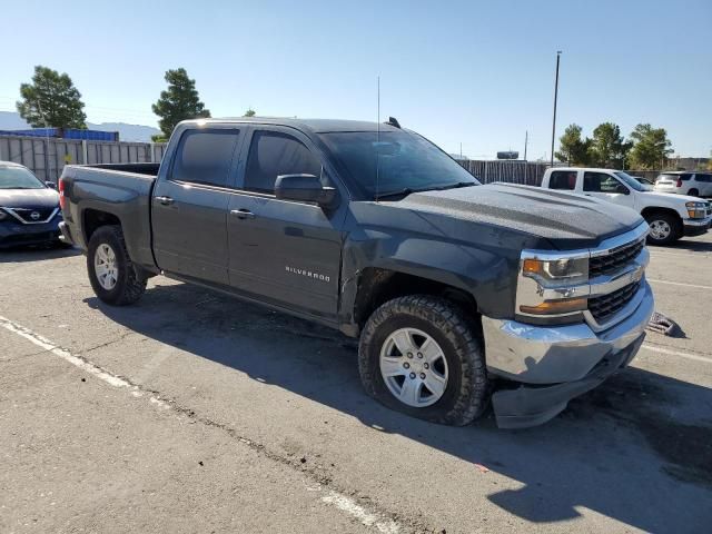
[[[510,184],[416,192],[397,205],[545,238],[560,249],[594,246],[643,221],[634,210],[611,202]]]

